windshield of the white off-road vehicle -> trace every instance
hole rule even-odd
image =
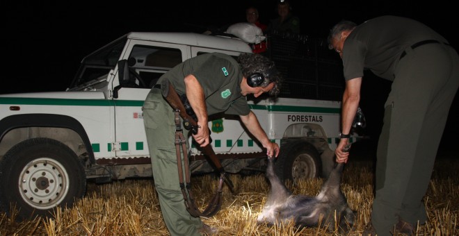
[[[108,74],[111,69],[115,69],[116,63],[121,56],[122,49],[124,48],[126,42],[127,36],[124,35],[118,40],[107,44],[102,49],[86,56],[86,58],[83,58],[77,75],[72,81],[70,88],[88,84],[90,81]]]

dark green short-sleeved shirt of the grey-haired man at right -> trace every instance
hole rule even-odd
[[[362,77],[364,69],[394,81],[400,55],[412,44],[424,40],[447,42],[428,26],[413,19],[383,16],[355,27],[344,41],[342,51],[346,81]]]

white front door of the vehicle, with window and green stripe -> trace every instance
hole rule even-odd
[[[142,106],[161,75],[189,57],[189,47],[145,40],[130,40],[127,60],[129,81],[118,85],[115,103],[115,142],[108,147],[118,158],[149,157]],[[127,74],[127,73],[124,73]],[[147,158],[150,161],[150,158]]]

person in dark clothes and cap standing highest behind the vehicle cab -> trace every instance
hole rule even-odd
[[[271,19],[266,33],[282,34],[282,33],[300,33],[300,19],[293,15],[292,8],[288,0],[280,0],[277,3],[277,15],[275,19]]]

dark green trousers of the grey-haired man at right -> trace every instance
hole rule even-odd
[[[398,219],[416,228],[427,220],[423,198],[449,108],[459,86],[458,53],[444,44],[407,49],[385,103],[371,221],[390,235]]]

